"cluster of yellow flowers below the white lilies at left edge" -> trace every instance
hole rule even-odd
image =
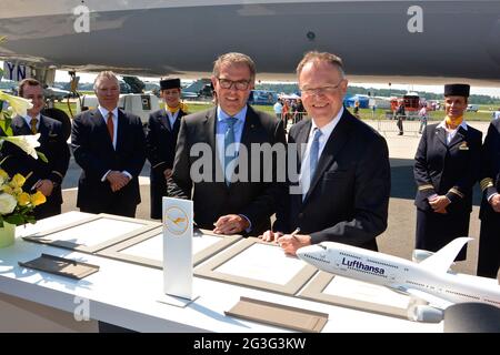
[[[0,169],[0,227],[3,222],[21,225],[34,223],[33,209],[46,202],[46,196],[37,191],[29,194],[22,190],[26,179],[21,174],[10,178]]]

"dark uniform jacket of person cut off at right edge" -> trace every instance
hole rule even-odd
[[[491,121],[488,128],[481,149],[480,180],[483,193],[479,217],[481,220],[500,219],[500,213],[496,213],[488,202],[489,196],[500,193],[500,120]]]

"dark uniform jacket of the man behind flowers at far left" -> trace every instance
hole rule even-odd
[[[11,128],[13,135],[32,134],[28,123],[19,115],[12,119]],[[52,194],[47,197],[47,202],[34,209],[37,220],[61,213],[61,183],[70,160],[70,151],[62,133],[61,122],[40,115],[38,131],[40,133],[40,146],[37,148],[37,151],[47,156],[47,163],[41,159],[33,159],[9,142],[4,142],[2,146],[2,155],[7,158],[2,169],[10,175],[16,173],[20,173],[23,176],[29,175],[23,186],[26,192],[30,192],[31,186],[39,180],[48,179],[54,184]]]

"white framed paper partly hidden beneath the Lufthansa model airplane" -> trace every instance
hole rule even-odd
[[[409,296],[390,291],[387,287],[342,276],[333,277],[323,293],[400,308],[406,308],[410,301]]]

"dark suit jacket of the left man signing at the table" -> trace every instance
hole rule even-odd
[[[251,223],[250,234],[257,235],[270,227],[270,216],[274,213],[277,184],[263,181],[263,162],[260,163],[259,180],[250,182],[252,166],[259,161],[250,149],[251,143],[286,143],[282,121],[248,106],[241,145],[248,151],[249,182],[238,181],[227,186],[216,143],[217,108],[187,115],[181,120],[173,175],[169,179],[169,195],[194,201],[194,221],[199,227],[213,229],[213,223],[226,214],[243,214]],[[196,143],[203,142],[208,158],[203,154],[191,156]],[[283,146],[284,148],[284,146]],[[240,159],[241,159],[240,148]],[[194,150],[193,150],[194,151]],[[201,168],[207,179],[193,182],[190,170],[203,159],[210,166]],[[211,164],[210,164],[211,163]],[[272,162],[272,180],[276,180],[277,162]],[[198,170],[197,170],[198,171]],[[266,171],[269,172],[269,171]],[[237,171],[236,173],[239,173]],[[194,189],[192,189],[194,187]],[[191,195],[192,192],[192,195]]]

